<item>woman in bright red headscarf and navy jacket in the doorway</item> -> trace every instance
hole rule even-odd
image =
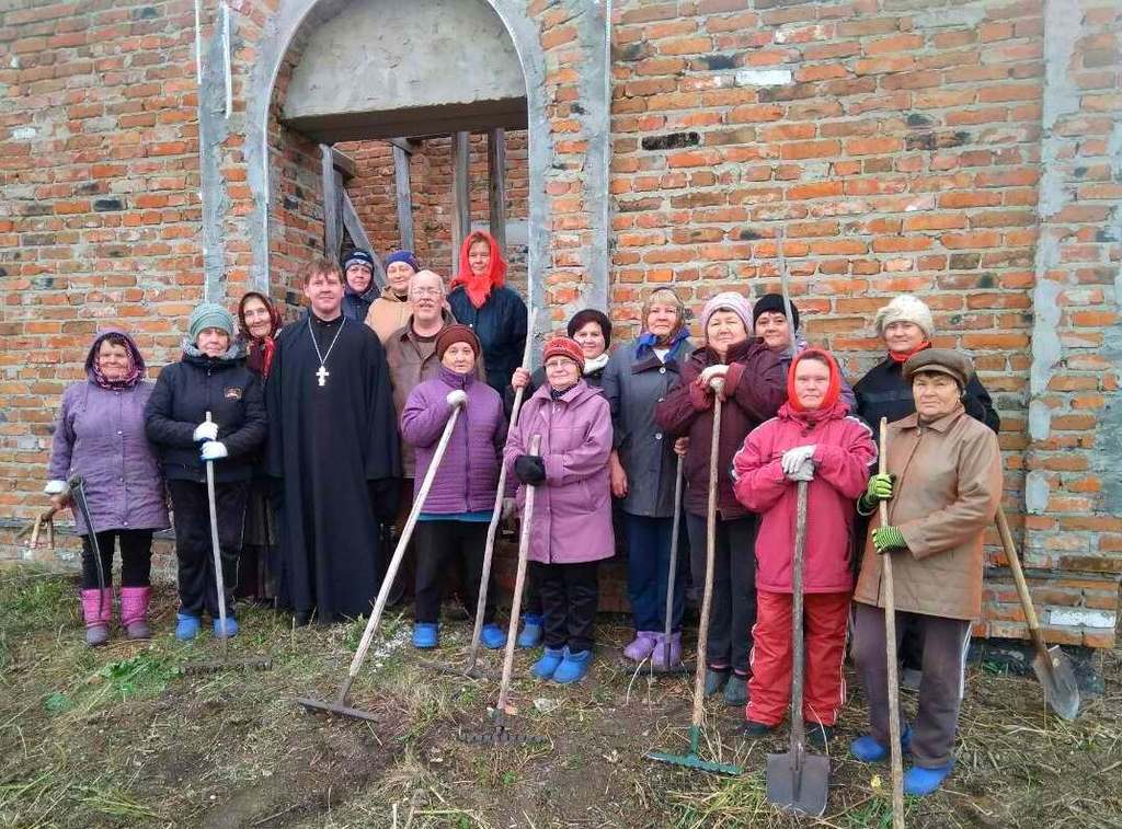
[[[490,233],[476,230],[460,248],[460,269],[448,305],[484,348],[487,385],[502,395],[526,347],[526,303],[506,287],[506,260]]]

